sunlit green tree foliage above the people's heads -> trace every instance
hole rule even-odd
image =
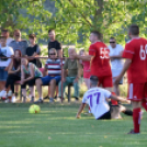
[[[115,36],[125,44],[127,27],[140,26],[140,36],[147,35],[146,0],[4,0],[0,3],[0,26],[21,29],[23,36],[37,34],[47,43],[47,30],[56,29],[57,39],[88,49],[91,30],[99,30],[103,41]],[[50,4],[52,3],[52,4]],[[55,4],[55,9],[54,8]]]

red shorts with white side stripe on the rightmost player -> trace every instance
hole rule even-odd
[[[140,101],[143,99],[147,99],[147,82],[128,83],[127,99],[132,101]]]

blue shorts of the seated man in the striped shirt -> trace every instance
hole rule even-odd
[[[41,78],[43,86],[48,86],[52,79],[55,79],[56,84],[58,84],[58,82],[61,80],[61,76],[55,76],[55,77],[45,76],[45,77]]]

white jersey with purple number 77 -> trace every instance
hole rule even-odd
[[[103,114],[110,111],[110,106],[105,98],[110,98],[111,92],[102,88],[89,89],[82,99],[82,103],[87,103],[95,118],[101,117]]]

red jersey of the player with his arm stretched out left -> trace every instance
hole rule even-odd
[[[112,76],[109,53],[109,48],[102,42],[90,45],[89,55],[94,56],[91,63],[91,75],[98,77]]]

